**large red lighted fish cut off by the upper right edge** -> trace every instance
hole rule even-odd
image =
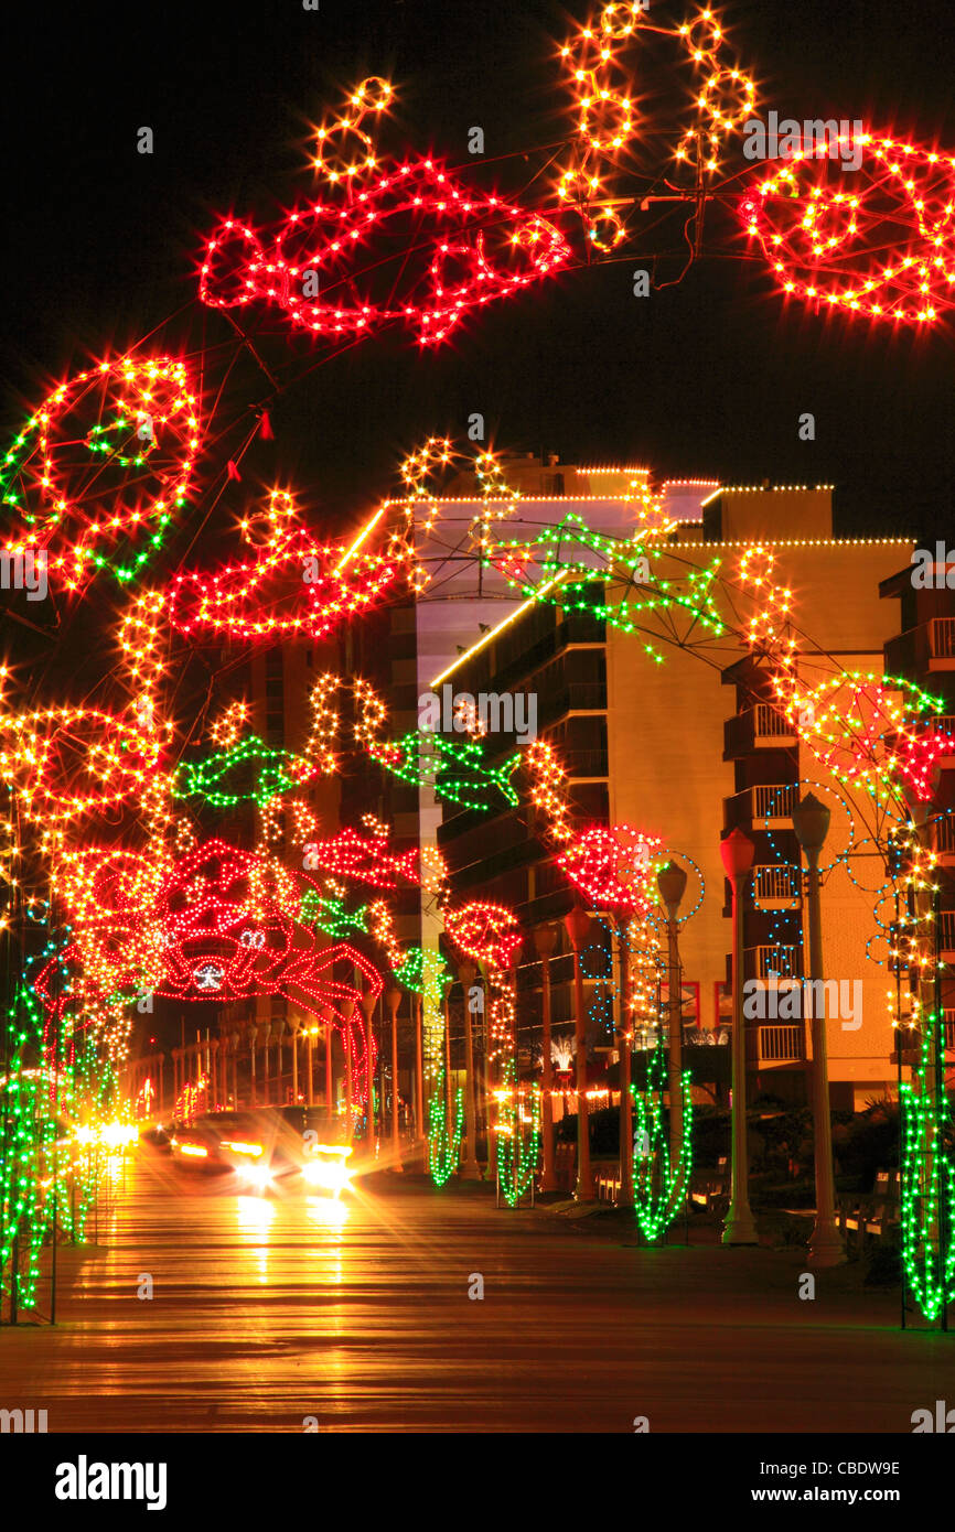
[[[874,130],[834,147],[800,142],[760,172],[740,204],[750,234],[817,311],[930,323],[955,303],[955,158]]]

